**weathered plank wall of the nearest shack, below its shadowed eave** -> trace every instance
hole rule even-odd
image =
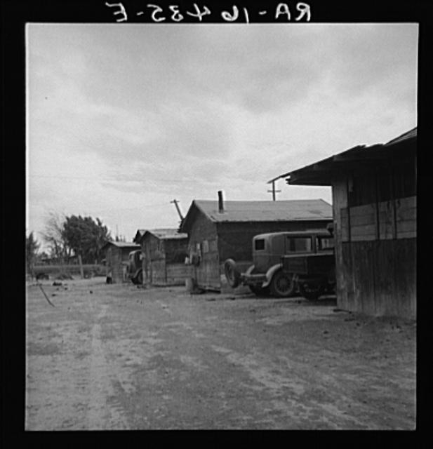
[[[333,182],[338,307],[416,315],[416,196],[347,207],[347,177]]]

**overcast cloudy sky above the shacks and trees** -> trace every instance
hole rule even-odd
[[[411,24],[27,25],[27,232],[55,211],[131,240],[177,227],[173,199],[271,200],[416,126],[417,52]]]

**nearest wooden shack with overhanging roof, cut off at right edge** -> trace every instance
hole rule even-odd
[[[416,316],[417,128],[291,171],[289,185],[331,185],[338,307]]]

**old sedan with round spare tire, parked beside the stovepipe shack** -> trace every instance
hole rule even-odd
[[[283,269],[284,255],[309,254],[316,248],[316,239],[331,239],[326,230],[272,232],[253,237],[253,265],[241,273],[232,259],[224,264],[227,283],[232,288],[248,286],[256,295],[272,294],[288,297],[298,290],[298,276]]]

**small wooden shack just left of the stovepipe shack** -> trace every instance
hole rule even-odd
[[[149,229],[140,240],[143,283],[154,286],[185,285],[188,267],[187,234],[178,229]]]

